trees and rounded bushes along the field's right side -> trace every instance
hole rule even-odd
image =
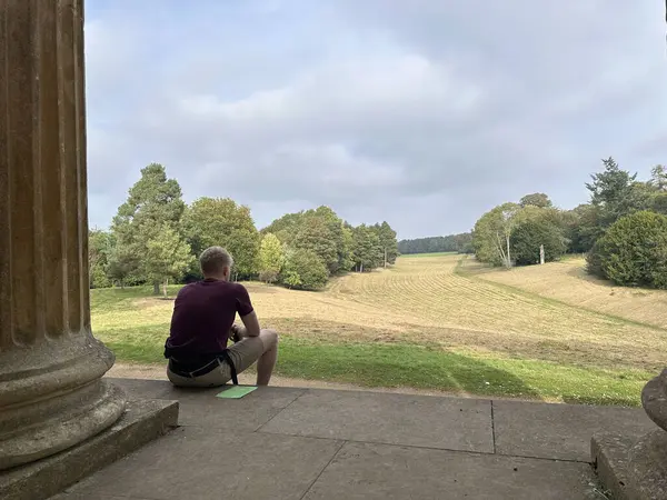
[[[640,181],[614,158],[603,163],[586,183],[589,201],[573,210],[534,193],[481,216],[472,231],[477,259],[510,268],[585,253],[593,274],[623,286],[667,288],[667,169],[656,166]]]

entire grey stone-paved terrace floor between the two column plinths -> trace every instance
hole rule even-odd
[[[654,429],[626,408],[291,388],[232,400],[115,382],[178,399],[180,427],[58,500],[600,500],[593,433]]]

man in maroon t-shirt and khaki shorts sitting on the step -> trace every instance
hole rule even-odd
[[[178,293],[165,343],[167,377],[179,387],[216,387],[257,361],[257,384],[267,386],[278,356],[278,334],[262,330],[248,290],[229,281],[231,256],[220,247],[199,258],[203,280]],[[235,324],[239,314],[243,326]],[[233,344],[227,346],[232,339]]]

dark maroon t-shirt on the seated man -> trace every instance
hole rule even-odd
[[[223,351],[237,312],[252,312],[242,284],[209,279],[187,284],[176,297],[166,346],[176,358]]]

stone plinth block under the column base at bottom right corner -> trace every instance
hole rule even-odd
[[[645,436],[600,433],[593,438],[593,460],[613,500],[667,498],[667,432]]]

